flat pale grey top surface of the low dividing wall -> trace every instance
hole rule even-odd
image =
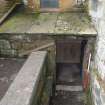
[[[0,105],[30,105],[36,92],[46,52],[33,52],[11,84]]]

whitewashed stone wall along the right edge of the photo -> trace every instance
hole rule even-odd
[[[105,105],[105,1],[89,0],[89,13],[97,29],[91,88],[95,105]]]

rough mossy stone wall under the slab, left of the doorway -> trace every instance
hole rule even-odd
[[[1,35],[0,55],[24,56],[30,54],[34,49],[53,42],[52,38],[42,35]]]

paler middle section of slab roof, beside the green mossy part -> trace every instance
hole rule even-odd
[[[58,13],[41,13],[27,33],[54,33]]]

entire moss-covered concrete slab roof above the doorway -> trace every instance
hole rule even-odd
[[[88,15],[80,12],[34,13],[29,14],[19,7],[11,17],[0,26],[0,34],[47,34],[96,36]]]

